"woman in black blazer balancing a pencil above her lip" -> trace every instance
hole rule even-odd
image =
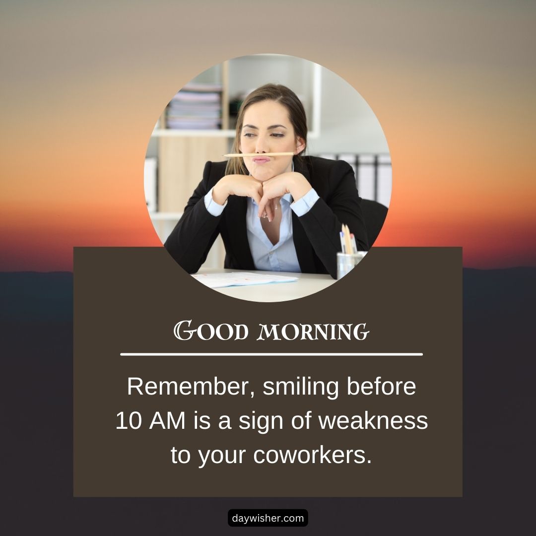
[[[203,180],[164,244],[188,273],[197,272],[218,236],[225,267],[329,273],[337,277],[341,224],[367,250],[352,167],[303,157],[307,118],[300,99],[266,84],[242,103],[233,153],[255,157],[207,162]],[[290,152],[291,156],[264,156]]]

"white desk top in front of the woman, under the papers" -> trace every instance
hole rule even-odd
[[[222,268],[204,268],[198,273],[224,273],[224,272],[255,272],[269,273],[274,276],[293,276],[297,281],[291,283],[273,283],[269,285],[248,285],[243,287],[214,288],[214,291],[255,302],[296,300],[309,296],[323,288],[332,285],[335,280],[328,274],[293,273],[293,272],[263,272],[260,270],[226,270]]]

